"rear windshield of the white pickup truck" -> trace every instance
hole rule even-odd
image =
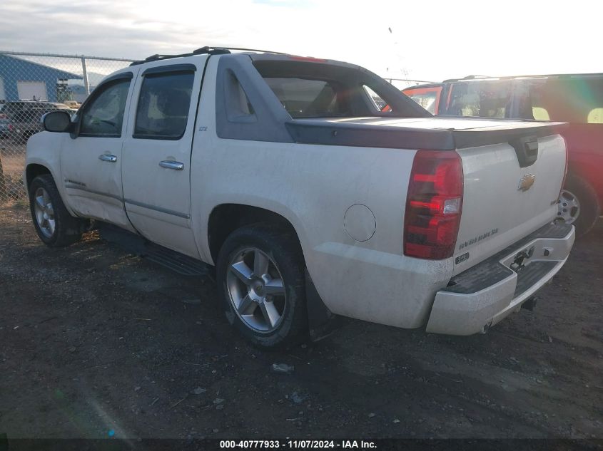
[[[355,66],[260,60],[255,68],[293,118],[427,114],[382,78]]]

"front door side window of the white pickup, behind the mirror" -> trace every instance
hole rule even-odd
[[[81,113],[80,135],[98,138],[121,137],[130,80],[109,82]]]

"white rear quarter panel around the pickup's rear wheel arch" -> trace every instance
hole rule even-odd
[[[276,212],[298,232],[318,293],[334,313],[402,327],[425,322],[452,263],[402,255],[404,210],[415,150],[226,140],[216,135],[216,63],[206,70],[191,162],[192,220],[204,261],[215,263],[207,224],[220,204]],[[355,241],[344,215],[354,204],[375,217]]]

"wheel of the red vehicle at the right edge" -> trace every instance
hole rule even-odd
[[[582,237],[590,232],[601,214],[597,193],[584,179],[568,175],[562,194],[559,197],[557,217],[576,227],[576,236]]]

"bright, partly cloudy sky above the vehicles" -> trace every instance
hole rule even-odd
[[[603,72],[602,12],[599,0],[1,0],[0,51],[263,48],[417,81]]]

